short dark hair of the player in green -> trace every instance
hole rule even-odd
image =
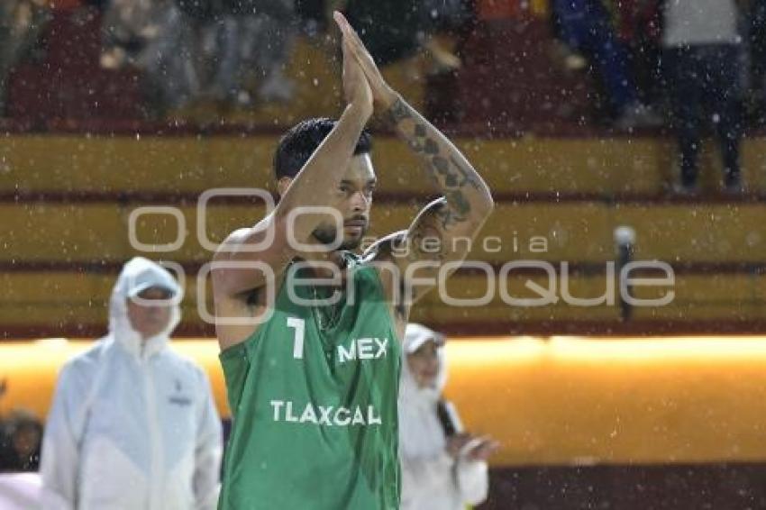
[[[277,151],[274,153],[274,175],[277,180],[295,178],[337,123],[333,119],[322,117],[307,119],[290,128],[279,140]],[[367,154],[370,150],[372,135],[363,130],[354,148],[354,155]]]

